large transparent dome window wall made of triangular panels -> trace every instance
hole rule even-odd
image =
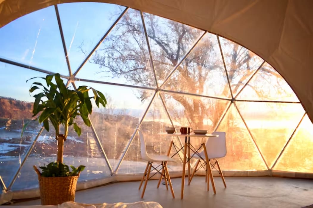
[[[225,131],[225,176],[312,176],[313,125],[297,95],[268,62],[225,37],[100,2],[37,10],[0,37],[0,176],[13,192],[38,188],[32,166],[56,158],[54,132],[31,120],[26,82],[51,73],[108,101],[93,109],[90,128],[80,137],[71,129],[65,141],[64,162],[86,166],[81,188],[142,175],[137,127],[151,154],[166,154],[172,140],[182,145],[158,134],[166,126]],[[174,158],[172,174],[182,171]]]

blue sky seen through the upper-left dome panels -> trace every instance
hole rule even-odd
[[[58,9],[69,61],[74,73],[125,7],[107,3],[82,2],[59,4]],[[80,51],[78,48],[80,45],[83,45],[86,54]],[[0,28],[0,46],[2,58],[69,75],[54,6],[20,17]],[[93,67],[91,64],[86,66],[88,67],[84,67],[79,74],[94,72],[90,69]],[[2,74],[0,96],[28,102],[33,102],[34,98],[28,93],[32,82],[26,83],[26,80],[46,76],[41,72],[3,62],[0,62],[0,73]],[[92,75],[89,75],[89,78],[91,79]],[[123,83],[125,80],[106,78],[105,81]],[[136,89],[93,83],[83,84],[93,86],[109,95],[117,108],[142,107],[140,100],[134,95],[135,91],[138,92]],[[80,85],[82,85],[81,82],[76,82],[77,87]]]

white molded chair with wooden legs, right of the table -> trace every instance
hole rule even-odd
[[[215,184],[214,184],[211,168],[212,169],[215,168],[215,165],[218,166],[218,172],[221,175],[224,186],[226,188],[226,182],[225,182],[225,179],[223,176],[223,172],[222,172],[221,167],[219,166],[219,163],[217,160],[218,158],[226,156],[226,153],[227,153],[227,150],[226,150],[226,133],[221,132],[221,131],[215,131],[212,134],[218,135],[218,137],[209,137],[207,140],[207,143],[205,144],[206,152],[201,151],[199,153],[199,155],[203,159],[205,159],[204,164],[201,163],[201,161],[203,161],[203,160],[198,155],[193,156],[194,158],[198,158],[198,161],[197,161],[196,166],[192,172],[192,176],[190,178],[189,184],[190,184],[195,172],[198,171],[201,167],[205,167],[205,169],[206,169],[205,171],[207,172],[206,177],[205,177],[205,182],[208,181],[208,176],[210,176],[212,186],[213,186],[213,191],[214,191],[214,194],[216,194]],[[211,160],[215,160],[213,165],[211,164]],[[201,163],[201,167],[199,169],[197,169],[199,163]],[[209,190],[209,182],[208,182],[207,186],[208,186],[208,190]]]

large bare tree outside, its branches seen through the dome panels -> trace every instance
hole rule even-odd
[[[100,66],[100,76],[123,77],[130,84],[147,87],[156,87],[157,80],[158,84],[162,85],[169,72],[204,32],[150,14],[144,14],[144,20],[156,79],[152,71],[141,15],[133,9],[126,12],[92,57],[92,62]],[[263,60],[233,42],[223,41],[222,44],[225,48],[224,55],[228,56],[225,59],[229,60],[226,65],[231,88],[233,92],[238,93]],[[209,81],[211,77],[215,77],[214,82]],[[217,37],[210,33],[205,35],[161,88],[200,95],[206,95],[207,91],[211,90],[210,92],[215,91],[213,96],[231,99]],[[183,108],[180,114],[183,111],[187,122],[194,128],[203,128],[205,117],[215,126],[227,106],[226,102],[215,99],[175,93],[162,94],[169,106],[172,103],[169,111],[175,115],[175,112],[178,112],[175,103],[179,104]],[[137,96],[141,100],[147,98],[144,93]]]

